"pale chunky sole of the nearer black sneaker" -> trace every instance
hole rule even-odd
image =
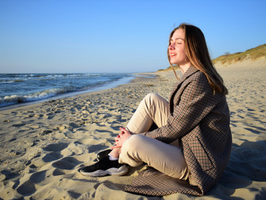
[[[95,172],[81,172],[80,173],[84,176],[92,176],[92,177],[100,177],[106,176],[107,174],[111,176],[123,176],[128,171],[127,165],[123,165],[119,168],[110,168],[108,170],[97,170]]]

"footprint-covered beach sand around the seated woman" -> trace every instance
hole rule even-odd
[[[0,111],[0,199],[266,199],[266,64],[217,66],[229,89],[233,147],[220,181],[204,196],[145,197],[124,192],[125,176],[92,178],[78,169],[112,147],[148,93],[168,100],[172,71],[73,98]],[[145,74],[144,74],[145,75]]]

